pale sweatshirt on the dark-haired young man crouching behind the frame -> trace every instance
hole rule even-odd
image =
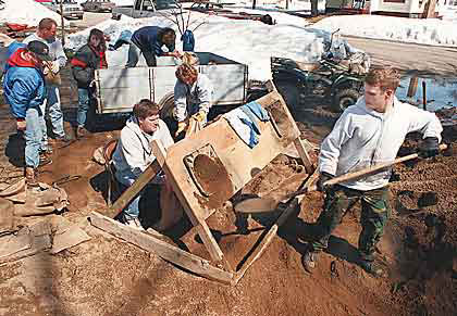
[[[174,143],[163,121],[159,119],[159,128],[152,135],[148,135],[139,128],[134,115],[128,118],[113,153],[115,177],[121,184],[131,186],[156,160],[149,146],[155,139],[160,140],[165,149]]]

